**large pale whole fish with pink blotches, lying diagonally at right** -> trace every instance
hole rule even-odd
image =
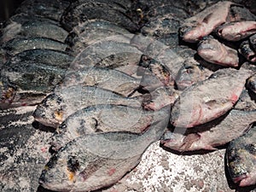
[[[183,90],[173,104],[171,124],[191,128],[227,113],[238,101],[246,80],[255,72],[248,63],[240,70],[219,69],[208,79]]]

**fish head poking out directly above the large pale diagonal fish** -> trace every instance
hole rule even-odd
[[[188,59],[184,61],[183,67],[177,73],[175,79],[177,90],[184,90],[192,84],[207,79],[211,74],[212,71],[201,66],[199,62],[194,59]]]

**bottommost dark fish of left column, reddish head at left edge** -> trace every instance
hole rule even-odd
[[[7,64],[7,63],[6,63]],[[8,63],[1,70],[0,108],[34,105],[55,88],[66,70],[35,61]]]

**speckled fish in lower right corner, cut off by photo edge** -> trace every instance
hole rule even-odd
[[[226,150],[227,167],[234,183],[256,184],[256,127],[231,141]]]

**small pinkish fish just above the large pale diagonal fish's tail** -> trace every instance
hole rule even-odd
[[[221,44],[212,37],[201,40],[197,47],[197,53],[204,60],[224,67],[238,67],[239,64],[236,49]]]

